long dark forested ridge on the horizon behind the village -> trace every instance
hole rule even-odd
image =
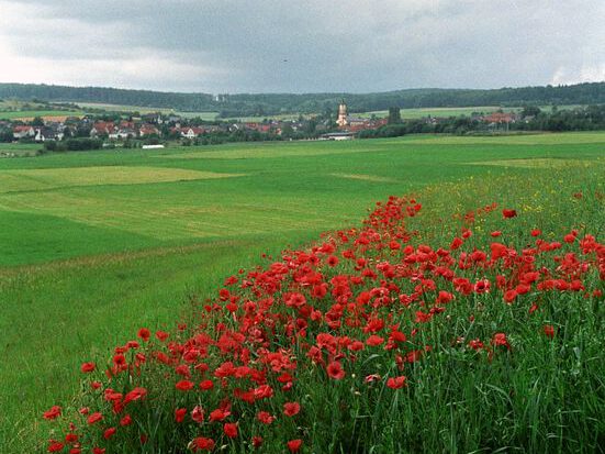
[[[33,84],[0,84],[0,99],[99,102],[168,108],[180,111],[215,111],[222,117],[333,111],[345,98],[351,112],[400,108],[591,104],[605,103],[605,82],[472,89],[406,89],[379,93],[266,93],[221,95],[125,90],[101,87],[65,87]]]

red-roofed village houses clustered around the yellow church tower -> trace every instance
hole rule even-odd
[[[399,112],[399,109],[396,109]],[[336,112],[335,112],[336,113]],[[492,112],[462,117],[467,121],[481,123],[489,129],[507,129],[522,120],[518,113]],[[451,121],[452,117],[427,115],[416,119],[416,123],[435,126]],[[343,101],[336,115],[299,115],[298,119],[283,120],[267,118],[262,121],[215,120],[186,118],[176,113],[146,114],[85,114],[74,117],[36,117],[33,119],[1,120],[0,141],[47,143],[69,139],[92,139],[103,142],[104,146],[123,143],[159,143],[160,141],[180,141],[189,144],[213,144],[236,137],[235,141],[262,140],[351,140],[362,136],[363,132],[377,131],[405,120],[393,117],[349,114]],[[361,133],[361,134],[360,134]],[[134,145],[136,146],[136,145]]]

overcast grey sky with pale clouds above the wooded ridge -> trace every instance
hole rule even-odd
[[[0,81],[206,93],[605,80],[604,0],[0,0]]]

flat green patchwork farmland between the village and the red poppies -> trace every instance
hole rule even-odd
[[[32,452],[47,436],[32,421],[78,391],[82,359],[139,325],[172,326],[190,296],[264,251],[355,225],[389,195],[416,192],[436,210],[514,199],[539,219],[558,190],[605,191],[604,171],[605,133],[1,159],[0,446]]]

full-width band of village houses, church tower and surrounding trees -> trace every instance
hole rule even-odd
[[[67,106],[67,107],[66,107]],[[101,147],[142,147],[177,143],[213,145],[226,142],[291,140],[352,140],[400,136],[413,133],[502,134],[524,131],[574,131],[605,129],[605,108],[524,107],[508,111],[452,112],[402,119],[401,109],[388,112],[349,113],[346,100],[322,114],[265,118],[255,121],[204,120],[166,112],[112,112],[75,114],[69,104],[48,103],[46,109],[66,109],[65,115],[36,115],[0,120],[0,141],[43,144],[43,151],[78,151]],[[71,109],[78,108],[70,106]],[[43,113],[43,112],[42,112]],[[60,113],[60,112],[59,112]],[[2,112],[0,112],[0,115]],[[1,117],[0,117],[1,119]],[[10,153],[4,153],[4,157]]]

